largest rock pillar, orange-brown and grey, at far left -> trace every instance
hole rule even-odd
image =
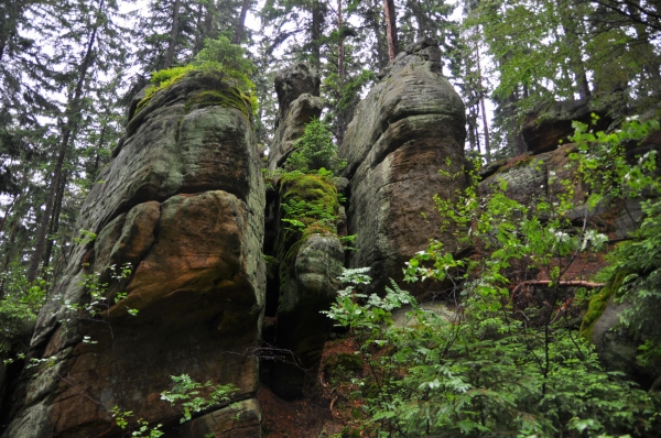
[[[28,359],[48,365],[24,370],[3,437],[119,436],[115,406],[132,410],[130,425],[163,423],[166,436],[260,436],[251,350],[264,300],[264,188],[250,112],[236,99],[199,103],[203,92],[236,96],[192,74],[128,124],[82,209],[79,228],[98,237],[73,249],[37,319]],[[108,266],[124,264],[131,274],[118,282]],[[110,283],[97,305],[95,272]],[[177,431],[182,409],[160,393],[183,373],[231,383],[242,402]]]

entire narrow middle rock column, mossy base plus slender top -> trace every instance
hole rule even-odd
[[[270,169],[284,164],[305,125],[319,117],[323,107],[323,100],[314,96],[318,94],[318,76],[306,64],[280,72],[275,90],[280,109],[269,153]],[[275,322],[273,332],[266,336],[269,346],[283,353],[263,365],[271,390],[293,398],[303,394],[306,377],[315,375],[330,332],[333,321],[321,311],[335,300],[344,250],[337,238],[339,205],[333,178],[284,176],[275,186],[269,196],[264,241],[264,253],[274,260],[267,316]]]

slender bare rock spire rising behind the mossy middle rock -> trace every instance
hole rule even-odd
[[[318,119],[324,109],[319,96],[318,72],[307,64],[299,63],[284,68],[275,76],[278,92],[278,118],[275,134],[269,150],[269,169],[282,166],[303,135],[305,125]]]

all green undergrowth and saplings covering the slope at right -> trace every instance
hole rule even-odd
[[[661,398],[622,373],[607,371],[585,339],[611,297],[629,304],[621,325],[644,342],[640,361],[654,364],[661,346],[661,202],[655,156],[629,164],[622,143],[646,138],[655,122],[630,120],[613,134],[576,124],[572,160],[588,186],[585,215],[575,211],[571,182],[550,198],[521,202],[507,183],[491,195],[477,180],[454,200],[437,198],[444,227],[457,230],[468,256],[441,242],[404,267],[409,282],[452,281],[436,296],[454,314],[420,308],[394,282],[383,297],[365,296],[366,270],[343,276],[327,313],[360,344],[367,374],[345,393],[350,425],[368,437],[653,437],[661,429]],[[610,255],[602,274],[608,287],[568,277],[581,254],[599,251],[608,236],[590,228],[589,215],[616,199],[642,202],[642,226]],[[525,277],[521,273],[533,273]],[[541,275],[543,281],[537,281]],[[620,285],[618,285],[621,284]],[[583,287],[581,287],[583,286]],[[525,291],[525,297],[523,296]],[[576,314],[593,296],[582,337]],[[408,305],[410,324],[394,326],[393,309]],[[344,387],[347,387],[346,385]],[[657,430],[657,431],[655,431]]]

